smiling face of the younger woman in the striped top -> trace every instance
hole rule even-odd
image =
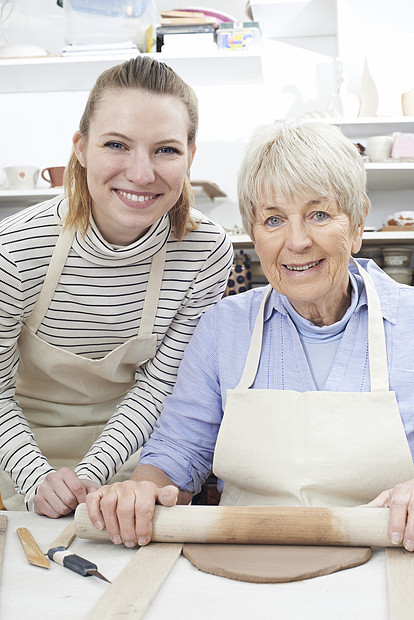
[[[102,236],[129,245],[177,202],[193,161],[185,105],[170,95],[108,90],[87,138],[74,136]]]

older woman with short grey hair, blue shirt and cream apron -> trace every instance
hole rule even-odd
[[[414,549],[414,289],[351,256],[365,184],[335,127],[252,140],[239,199],[270,284],[206,313],[132,480],[88,496],[114,542],[148,542],[154,502],[188,502],[213,467],[221,504],[390,506]]]

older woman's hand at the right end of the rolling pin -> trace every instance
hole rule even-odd
[[[395,545],[402,543],[414,551],[414,479],[383,491],[367,507],[389,508],[388,536]]]

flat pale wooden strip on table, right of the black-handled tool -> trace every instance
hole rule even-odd
[[[182,545],[150,543],[136,551],[86,620],[140,620],[181,555]]]

